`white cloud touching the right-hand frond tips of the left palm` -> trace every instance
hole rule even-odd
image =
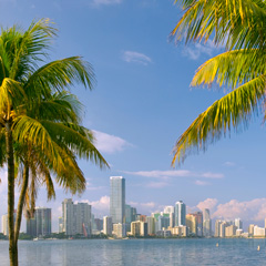
[[[133,146],[125,140],[110,135],[100,131],[93,131],[95,136],[95,146],[100,152],[113,154],[115,152],[122,152],[127,146]]]

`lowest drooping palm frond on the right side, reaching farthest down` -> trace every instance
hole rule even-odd
[[[182,162],[194,150],[205,151],[208,143],[213,143],[231,129],[246,125],[253,113],[259,111],[259,103],[265,98],[266,79],[260,75],[238,89],[232,91],[221,100],[214,102],[205,112],[190,125],[180,136],[174,147],[175,161]]]

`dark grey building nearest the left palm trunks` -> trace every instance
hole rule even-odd
[[[27,235],[32,237],[50,236],[52,234],[52,209],[35,207],[34,217],[27,219]]]

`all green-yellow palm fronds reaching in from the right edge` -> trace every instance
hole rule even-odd
[[[229,89],[201,113],[180,136],[172,165],[195,150],[249,122],[253,114],[265,112],[266,88],[266,2],[263,0],[176,0],[184,13],[172,31],[176,41],[207,41],[223,45],[225,52],[202,64],[192,85],[217,83]],[[266,117],[266,115],[265,115]],[[265,119],[264,117],[264,119]]]

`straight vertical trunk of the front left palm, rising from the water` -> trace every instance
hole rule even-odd
[[[18,245],[14,242],[14,158],[13,158],[13,136],[11,122],[6,123],[6,144],[8,157],[8,227],[9,227],[9,259],[10,266],[18,266]]]

